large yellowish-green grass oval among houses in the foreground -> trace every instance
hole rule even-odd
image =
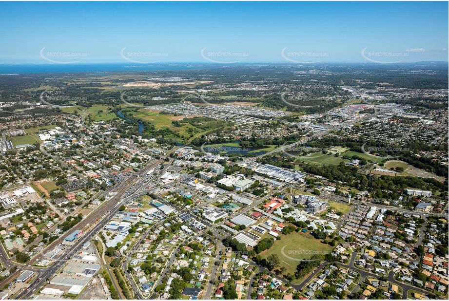
[[[273,246],[260,253],[263,258],[271,254],[279,257],[281,266],[285,266],[285,273],[294,274],[296,266],[302,259],[309,259],[314,254],[325,255],[332,251],[332,246],[322,244],[309,234],[292,232],[288,235],[280,234],[280,240],[276,240]]]

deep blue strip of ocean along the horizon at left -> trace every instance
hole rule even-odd
[[[133,65],[116,64],[0,64],[0,74],[33,74],[33,73],[102,73],[120,71],[164,71],[186,69],[211,69],[217,65],[200,63]]]

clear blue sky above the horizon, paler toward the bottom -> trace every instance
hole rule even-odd
[[[447,61],[448,2],[0,2],[0,41],[0,63]]]

